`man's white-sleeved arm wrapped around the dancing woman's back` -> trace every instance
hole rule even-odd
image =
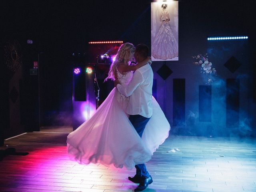
[[[135,71],[132,77],[132,80],[127,86],[122,86],[121,84],[117,84],[116,88],[120,93],[124,96],[129,97],[132,95],[134,90],[143,82],[142,74],[139,71]]]

